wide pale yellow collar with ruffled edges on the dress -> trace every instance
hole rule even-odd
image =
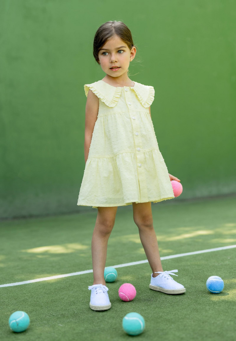
[[[88,96],[90,89],[98,98],[101,99],[102,102],[109,107],[114,107],[117,104],[123,88],[126,87],[114,87],[108,83],[105,83],[103,80],[98,80],[94,83],[84,85],[86,97]],[[134,86],[130,88],[134,90],[140,103],[145,108],[148,108],[152,104],[155,95],[153,86],[134,82]]]

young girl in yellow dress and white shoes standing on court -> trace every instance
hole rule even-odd
[[[84,85],[85,169],[77,205],[97,208],[92,236],[93,285],[90,308],[111,307],[104,280],[107,242],[118,206],[133,205],[134,222],[153,271],[149,288],[166,294],[185,292],[183,285],[163,271],[153,227],[151,202],[174,198],[150,114],[154,88],[128,77],[136,47],[129,28],[108,21],[97,30],[93,55],[105,72],[102,80]]]

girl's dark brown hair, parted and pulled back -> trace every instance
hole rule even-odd
[[[114,35],[118,35],[128,45],[130,50],[135,46],[129,28],[122,21],[107,21],[97,29],[93,40],[93,56],[97,63],[99,63],[99,51],[107,40]]]

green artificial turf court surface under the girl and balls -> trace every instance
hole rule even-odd
[[[161,256],[236,244],[235,197],[152,205]],[[97,210],[57,217],[1,222],[0,284],[88,270],[91,236]],[[132,206],[117,210],[108,241],[106,266],[146,259],[133,222]],[[173,278],[186,287],[182,295],[149,289],[148,263],[117,268],[118,278],[107,283],[112,307],[89,308],[92,273],[0,288],[1,340],[233,340],[235,337],[236,249],[163,260],[164,270],[178,269]],[[209,276],[222,277],[220,294],[206,288]],[[118,296],[119,286],[132,283],[131,302]],[[13,333],[11,313],[23,310],[29,328]],[[122,318],[140,313],[146,323],[136,337],[122,330]]]

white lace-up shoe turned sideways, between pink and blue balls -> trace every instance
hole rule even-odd
[[[171,271],[158,271],[155,273],[160,273],[157,277],[153,277],[153,273],[151,275],[151,283],[149,284],[149,288],[156,291],[161,291],[165,294],[183,294],[185,293],[185,287],[177,283],[173,280],[170,275],[175,275],[173,272],[178,272],[178,270]]]

